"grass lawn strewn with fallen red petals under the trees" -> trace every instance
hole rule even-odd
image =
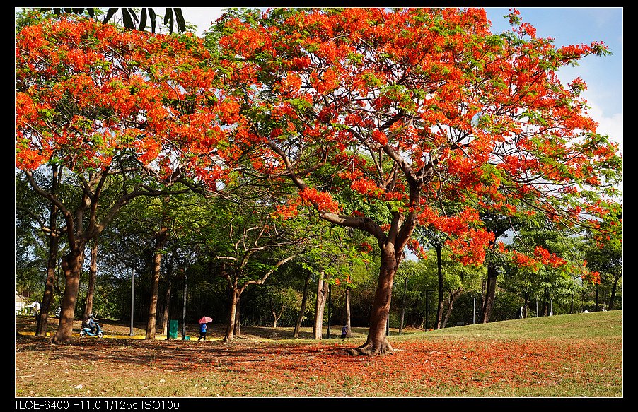
[[[102,323],[103,339],[52,345],[27,334],[33,319],[16,317],[16,398],[623,396],[622,310],[394,331],[395,352],[374,358],[345,351],[364,343],[365,328],[339,339],[336,327],[321,341],[244,328],[225,342],[222,325],[197,341],[194,324],[191,340],[146,341],[127,324]]]

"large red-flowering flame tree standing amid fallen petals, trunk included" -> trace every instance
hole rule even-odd
[[[393,278],[406,247],[420,248],[417,225],[481,263],[494,234],[480,209],[508,216],[526,204],[574,230],[613,209],[617,146],[596,133],[584,81],[556,76],[608,50],[557,48],[517,11],[509,19],[511,31],[491,33],[477,8],[233,10],[209,29],[228,88],[224,163],[294,184],[298,198],[282,213],[311,205],[376,238],[369,335],[352,354],[392,351]],[[361,208],[342,204],[345,192]],[[463,207],[435,206],[446,199]]]

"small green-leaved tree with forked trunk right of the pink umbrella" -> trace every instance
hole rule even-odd
[[[294,259],[303,242],[313,237],[312,226],[299,220],[277,220],[272,187],[226,188],[226,195],[200,206],[191,229],[208,254],[209,264],[228,288],[224,339],[233,340],[237,305],[250,285],[261,285],[279,266]]]

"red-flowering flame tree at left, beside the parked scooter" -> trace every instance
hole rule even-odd
[[[16,31],[16,169],[62,214],[69,243],[52,341],[71,340],[87,242],[135,196],[166,194],[155,178],[179,179],[187,160],[175,157],[167,136],[214,140],[214,130],[202,127],[216,116],[219,97],[209,94],[208,55],[192,35],[123,30],[79,16],[36,16]],[[47,163],[79,182],[79,199],[37,184],[33,171]],[[112,175],[120,175],[117,196],[102,204]]]

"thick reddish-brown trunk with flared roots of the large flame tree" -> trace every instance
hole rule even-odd
[[[400,257],[395,253],[394,245],[383,245],[381,248],[381,268],[372,304],[370,316],[370,330],[366,343],[358,348],[348,350],[351,355],[385,355],[393,353],[393,348],[385,336],[385,326],[390,314],[390,300],[392,298],[392,284],[399,267]]]

